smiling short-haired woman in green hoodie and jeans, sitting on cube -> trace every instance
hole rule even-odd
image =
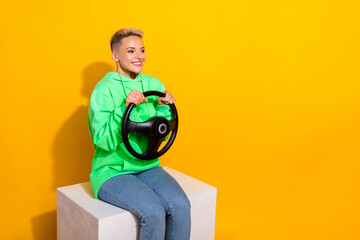
[[[162,169],[159,159],[134,158],[121,138],[126,107],[136,104],[130,119],[144,122],[154,116],[171,118],[167,104],[175,102],[159,79],[142,73],[145,48],[141,30],[127,28],[111,38],[116,72],[108,72],[95,86],[90,99],[89,131],[95,147],[90,181],[95,198],[134,213],[140,220],[140,240],[189,239],[190,202],[180,185]],[[142,92],[156,90],[165,97]],[[135,151],[147,148],[145,137],[132,134]]]

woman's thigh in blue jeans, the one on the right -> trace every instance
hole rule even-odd
[[[169,212],[172,206],[190,206],[190,201],[179,183],[162,167],[155,167],[135,176],[157,194],[166,212]]]

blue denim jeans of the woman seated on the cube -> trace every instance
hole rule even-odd
[[[112,177],[101,185],[98,196],[140,219],[140,240],[190,238],[190,201],[161,167]]]

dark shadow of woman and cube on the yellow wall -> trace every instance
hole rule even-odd
[[[81,94],[90,101],[99,80],[113,67],[104,62],[89,64],[82,73]],[[79,106],[63,123],[52,144],[54,160],[53,189],[89,181],[94,147],[88,130],[88,105]],[[31,219],[35,240],[56,239],[56,211]]]

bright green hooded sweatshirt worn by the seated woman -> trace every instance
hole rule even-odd
[[[88,124],[95,154],[90,182],[95,198],[98,198],[101,185],[114,176],[138,173],[161,166],[158,158],[144,161],[133,157],[122,141],[121,123],[126,110],[125,100],[133,89],[139,92],[165,91],[159,79],[144,73],[140,72],[135,79],[131,79],[117,72],[108,72],[91,94]],[[130,120],[145,122],[154,116],[170,120],[170,107],[159,105],[157,98],[147,97],[147,103],[143,102],[132,110]],[[148,147],[147,138],[137,133],[130,133],[129,141],[138,153],[144,153]]]

